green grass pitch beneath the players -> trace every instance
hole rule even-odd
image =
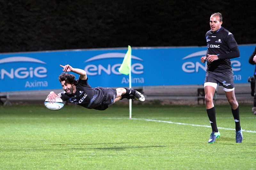
[[[0,106],[0,169],[256,169],[256,116],[215,106],[221,137],[208,144],[205,106]]]

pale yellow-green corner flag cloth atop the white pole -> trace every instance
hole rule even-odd
[[[125,54],[124,61],[118,71],[125,75],[130,74],[131,64],[132,64],[132,49],[131,49],[131,46],[128,46],[128,51]]]

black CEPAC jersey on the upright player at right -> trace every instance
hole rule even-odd
[[[230,53],[230,49],[237,47],[234,35],[221,27],[218,31],[206,32],[207,54],[218,55]],[[234,57],[232,57],[234,58]],[[218,59],[213,62],[207,61],[207,71],[226,72],[232,70],[230,59]]]

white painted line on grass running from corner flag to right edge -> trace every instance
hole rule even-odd
[[[108,118],[108,119],[128,119],[128,118]],[[199,125],[199,124],[184,124],[184,123],[178,123],[178,122],[170,122],[170,121],[163,121],[163,120],[153,120],[153,119],[138,119],[138,118],[129,118],[131,120],[144,120],[144,121],[149,121],[149,122],[161,122],[161,123],[168,123],[168,124],[182,124],[182,125],[189,125],[189,126],[199,126],[199,127],[209,127],[211,126],[205,126],[205,125]],[[236,129],[230,129],[230,128],[222,128],[218,127],[218,129],[225,129],[225,130],[232,130],[235,131]],[[256,131],[245,131],[243,132],[250,132],[250,133],[256,133]]]

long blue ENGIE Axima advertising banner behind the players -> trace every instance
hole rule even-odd
[[[248,83],[255,66],[248,60],[255,45],[240,45],[231,59],[235,83]],[[60,65],[87,72],[92,87],[128,87],[129,75],[118,72],[127,48],[0,54],[1,92],[61,89]],[[204,84],[207,47],[132,48],[132,87]],[[75,74],[76,78],[79,75]]]

